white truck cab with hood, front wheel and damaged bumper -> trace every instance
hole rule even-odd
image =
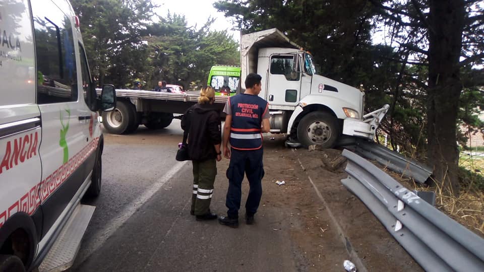
[[[277,29],[243,35],[240,58],[241,82],[262,76],[271,132],[287,133],[289,144],[332,148],[343,134],[373,140],[388,110],[365,115],[364,92],[317,75],[313,56]]]

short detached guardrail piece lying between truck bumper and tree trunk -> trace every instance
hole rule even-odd
[[[375,142],[358,139],[355,152],[367,159],[375,160],[397,173],[413,178],[418,183],[425,183],[433,172],[429,166],[405,158],[400,153]]]

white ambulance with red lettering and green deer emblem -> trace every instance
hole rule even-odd
[[[67,0],[0,1],[0,84],[0,271],[66,269],[94,211],[80,199],[101,189],[98,111],[116,104]]]

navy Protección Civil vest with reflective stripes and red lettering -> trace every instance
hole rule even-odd
[[[232,111],[230,146],[237,150],[262,148],[262,116],[269,103],[257,95],[238,94],[228,100]]]

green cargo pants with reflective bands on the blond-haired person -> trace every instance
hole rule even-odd
[[[193,163],[193,194],[192,211],[195,215],[204,215],[210,211],[213,183],[217,175],[215,159],[192,161]]]

